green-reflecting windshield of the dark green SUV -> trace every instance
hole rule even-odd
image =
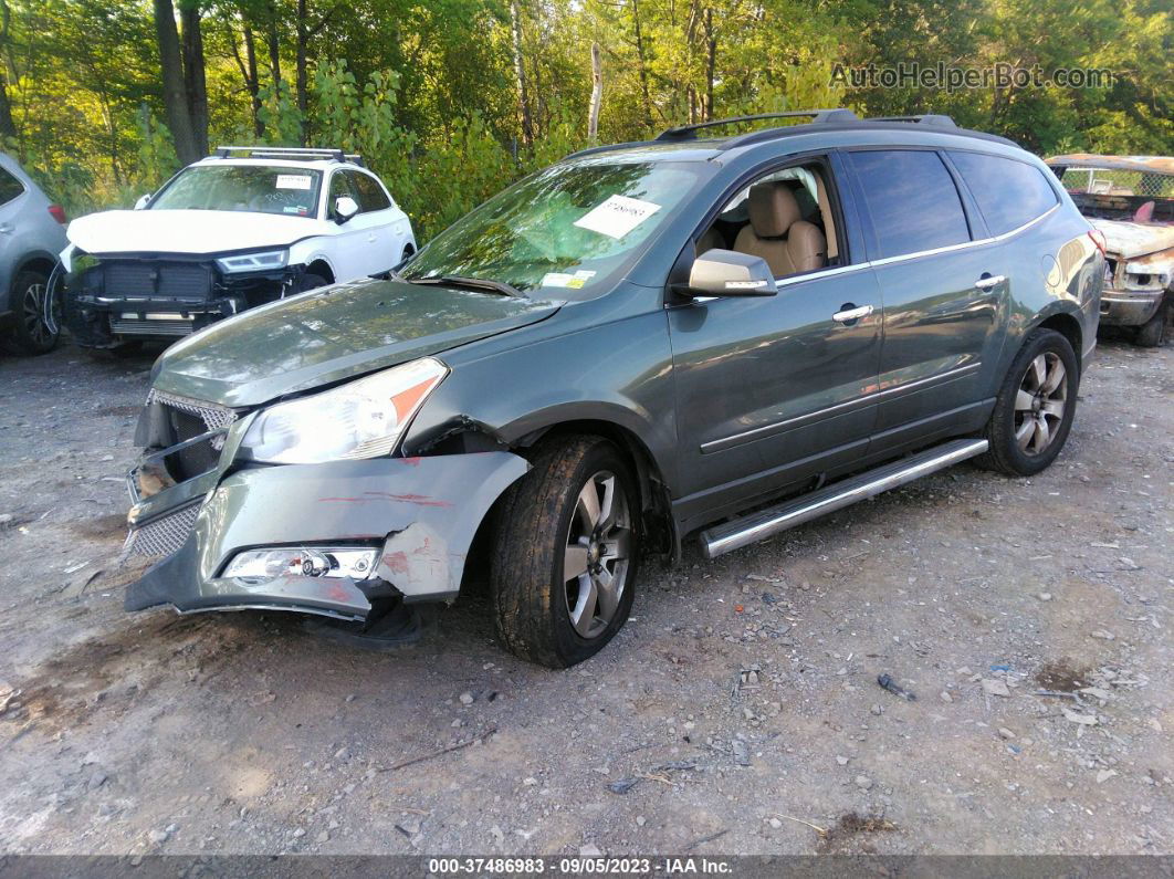
[[[552,298],[588,296],[630,266],[699,173],[695,163],[614,158],[553,165],[448,226],[403,273],[409,280],[488,278]]]

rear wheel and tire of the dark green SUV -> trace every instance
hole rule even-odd
[[[1080,373],[1072,344],[1054,330],[1033,330],[999,388],[986,424],[987,469],[1030,476],[1055,460],[1077,412]]]

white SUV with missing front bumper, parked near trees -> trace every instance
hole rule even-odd
[[[66,323],[79,345],[113,352],[416,252],[407,215],[338,149],[221,147],[134,210],[75,219],[68,237]]]

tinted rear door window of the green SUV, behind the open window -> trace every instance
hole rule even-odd
[[[876,230],[877,258],[916,253],[970,241],[953,177],[937,153],[849,153]]]

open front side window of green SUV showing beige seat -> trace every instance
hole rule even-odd
[[[767,261],[776,278],[841,264],[839,229],[819,162],[770,171],[738,190],[697,238]]]

